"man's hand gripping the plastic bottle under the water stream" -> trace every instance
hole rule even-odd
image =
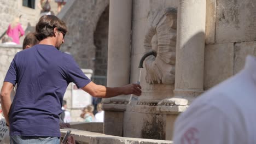
[[[141,86],[136,83],[130,83],[129,85],[126,85],[123,88],[124,94],[135,94],[137,96],[141,95]]]

